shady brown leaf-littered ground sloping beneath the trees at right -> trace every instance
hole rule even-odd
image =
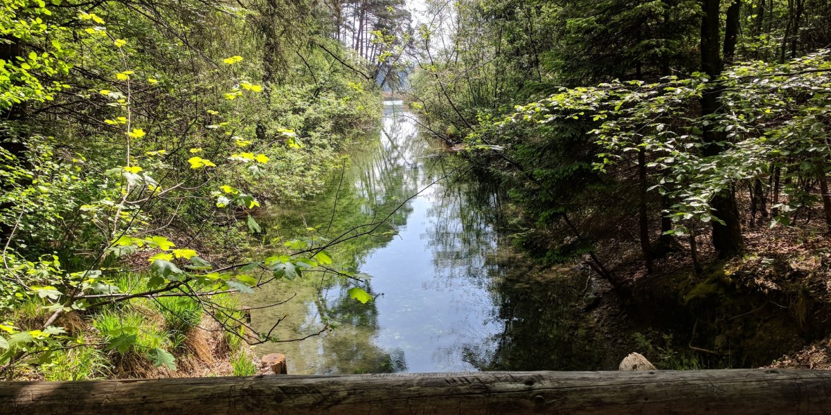
[[[700,273],[681,253],[656,262],[652,274],[635,259],[615,264],[626,288],[597,279],[588,300],[606,353],[622,359],[637,351],[659,369],[831,369],[831,241],[824,232],[746,229],[744,255],[718,261],[703,249]],[[709,245],[705,239],[700,247]]]

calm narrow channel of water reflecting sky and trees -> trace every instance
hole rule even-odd
[[[253,312],[259,330],[283,319],[273,331],[280,339],[337,325],[258,353],[286,354],[290,374],[597,369],[599,339],[574,307],[586,276],[532,271],[499,234],[503,198],[420,134],[414,117],[387,101],[379,129],[349,149],[319,197],[259,218],[264,240],[280,241],[335,237],[389,216],[371,236],[332,249],[364,282],[307,272],[243,299],[291,298]],[[356,285],[374,300],[349,298]]]

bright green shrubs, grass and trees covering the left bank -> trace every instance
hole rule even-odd
[[[249,345],[293,341],[237,295],[337,241],[266,240],[258,209],[375,124],[406,43],[381,3],[404,26],[363,12],[366,55],[337,3],[0,1],[0,376],[250,375]]]

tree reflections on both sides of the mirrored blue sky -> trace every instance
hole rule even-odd
[[[387,115],[383,128],[376,133],[380,139],[376,135],[352,149],[342,183],[337,171],[315,203],[291,207],[273,217],[271,223],[266,223],[273,232],[269,237],[276,237],[277,232],[287,239],[302,236],[307,225],[325,232],[336,196],[337,209],[329,236],[376,222],[460,163],[455,157],[433,154],[430,142],[417,138],[411,120]],[[479,369],[587,369],[597,365],[593,352],[597,341],[574,310],[585,279],[556,276],[543,281],[534,276],[529,260],[514,253],[507,238],[500,235],[499,212],[504,195],[489,187],[487,180],[457,173],[421,197],[430,200],[430,223],[426,224],[423,237],[433,253],[436,281],[459,288],[460,295],[465,295],[470,286],[486,288],[490,298],[480,300],[487,303],[486,308],[493,304],[494,310],[492,315],[483,317],[486,321],[482,321],[481,330],[498,332],[493,336],[460,336],[459,343],[436,353],[454,359],[461,355]],[[395,227],[406,226],[410,213],[410,207],[402,207],[389,222]],[[382,227],[373,237],[343,242],[332,254],[336,261],[357,270],[372,251],[391,241],[393,233],[383,232],[390,230]],[[311,278],[315,277],[319,275]],[[305,290],[298,297],[302,306],[293,311],[301,319],[292,329],[296,334],[317,331],[322,319],[341,323],[325,337],[304,342],[297,354],[311,359],[307,368],[317,373],[406,370],[403,350],[385,350],[376,345],[381,329],[376,304],[362,305],[352,300],[347,294],[352,284],[354,281],[330,276],[322,281],[284,286],[287,291]],[[372,293],[371,280],[361,283],[361,287]],[[318,289],[322,289],[320,295]],[[298,337],[293,334],[282,336]]]

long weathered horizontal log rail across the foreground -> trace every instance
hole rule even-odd
[[[0,413],[831,413],[831,371],[268,375],[0,382]]]

